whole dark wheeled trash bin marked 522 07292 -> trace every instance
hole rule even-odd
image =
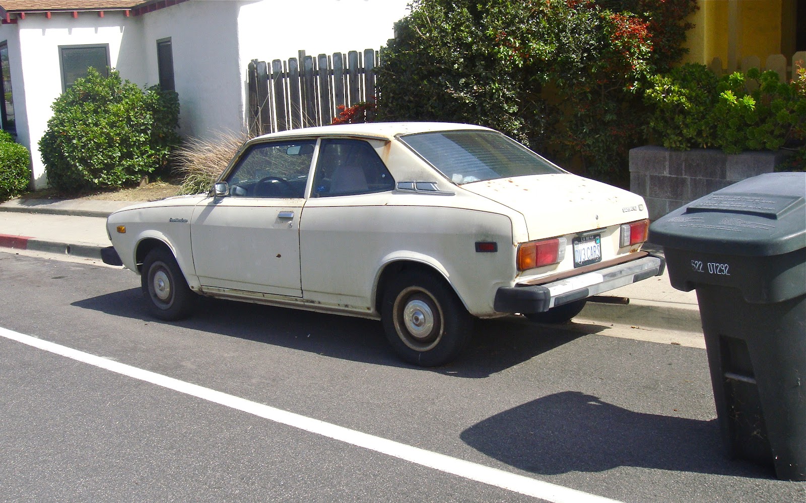
[[[650,225],[672,287],[696,290],[732,456],[806,480],[806,173],[734,183]]]

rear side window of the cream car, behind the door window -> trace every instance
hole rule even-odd
[[[392,175],[368,142],[322,140],[312,196],[351,196],[390,191],[394,187]]]

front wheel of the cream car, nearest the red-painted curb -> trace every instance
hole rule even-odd
[[[148,311],[160,320],[181,320],[193,311],[196,294],[188,287],[177,259],[167,249],[148,252],[140,270],[140,286]]]

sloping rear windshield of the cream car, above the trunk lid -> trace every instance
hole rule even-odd
[[[454,183],[546,175],[563,171],[520,143],[495,131],[440,131],[401,137]]]

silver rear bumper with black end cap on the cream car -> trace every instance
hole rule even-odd
[[[663,274],[666,261],[657,255],[605,267],[542,285],[515,285],[496,291],[493,307],[498,312],[532,313],[548,311],[575,300],[625,287],[642,279]]]

